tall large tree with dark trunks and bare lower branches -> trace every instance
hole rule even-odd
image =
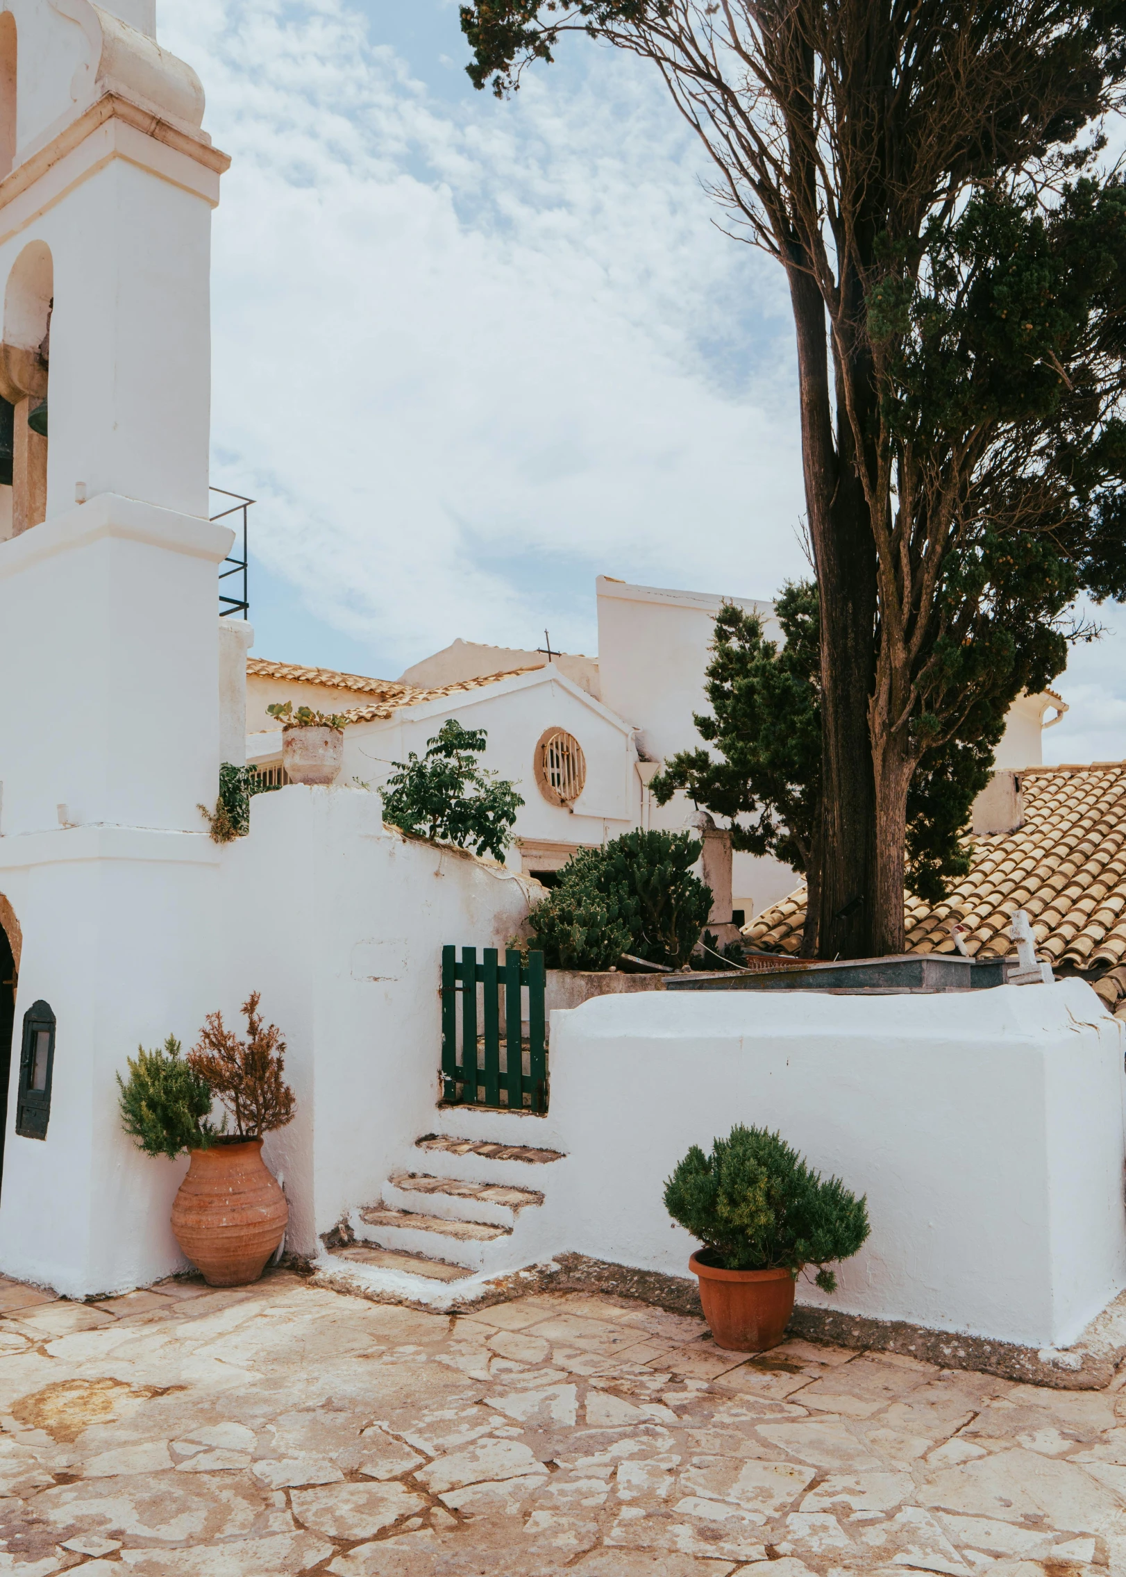
[[[904,945],[907,803],[1121,596],[1123,0],[478,0],[498,95],[566,32],[650,60],[785,270],[820,593],[825,957]],[[1083,142],[1085,139],[1085,142]]]

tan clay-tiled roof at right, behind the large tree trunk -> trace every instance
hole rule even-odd
[[[975,837],[968,875],[940,904],[907,896],[907,951],[954,953],[949,927],[960,924],[967,953],[1005,957],[1016,951],[1011,915],[1023,908],[1038,956],[1087,976],[1126,1019],[1126,762],[1030,766],[1019,776],[1023,825]],[[743,935],[752,948],[796,954],[804,919],[803,885]]]

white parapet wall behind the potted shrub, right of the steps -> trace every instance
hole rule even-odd
[[[684,1276],[664,1181],[746,1123],[867,1195],[837,1293],[800,1303],[1063,1347],[1126,1285],[1123,1025],[1082,981],[602,997],[550,1033],[566,1247]]]

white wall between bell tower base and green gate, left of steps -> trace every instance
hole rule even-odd
[[[289,1244],[312,1254],[437,1126],[443,945],[503,948],[531,886],[386,830],[375,793],[295,784],[254,796],[222,891],[229,971],[213,1006],[241,1022],[259,989],[285,1033],[298,1110],[265,1156],[285,1180]]]

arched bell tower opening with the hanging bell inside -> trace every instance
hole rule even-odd
[[[46,241],[30,241],[5,287],[0,396],[11,410],[11,530],[47,517],[47,380],[55,270]],[[8,413],[0,407],[0,462]],[[2,479],[2,478],[0,478]],[[0,527],[2,531],[2,527]]]

